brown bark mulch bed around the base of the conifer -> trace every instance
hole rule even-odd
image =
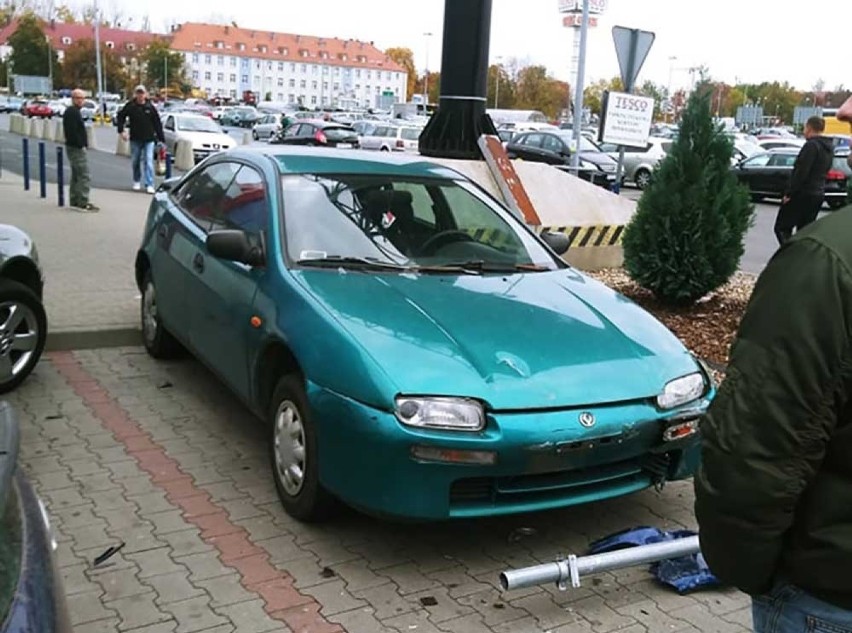
[[[672,308],[640,288],[620,268],[587,273],[629,297],[662,321],[692,352],[708,362],[717,378],[723,377],[728,351],[739,327],[756,277],[737,273],[730,282],[695,305]]]

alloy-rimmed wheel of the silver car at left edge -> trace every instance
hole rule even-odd
[[[21,312],[21,321],[14,329],[10,324],[12,309]],[[32,349],[13,349],[16,340],[25,335],[35,335]],[[20,385],[38,364],[47,340],[47,315],[41,299],[27,286],[11,279],[0,279],[0,393],[12,391]],[[6,361],[9,361],[8,370]]]

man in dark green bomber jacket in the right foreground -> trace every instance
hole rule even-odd
[[[852,208],[772,257],[701,432],[701,551],[755,631],[852,633]]]

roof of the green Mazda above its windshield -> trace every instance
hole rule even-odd
[[[228,152],[234,158],[267,156],[286,174],[365,174],[464,180],[459,172],[415,154],[353,152],[326,147],[242,145]]]

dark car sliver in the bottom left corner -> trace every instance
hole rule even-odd
[[[53,528],[18,464],[19,424],[0,400],[0,633],[71,633]]]

